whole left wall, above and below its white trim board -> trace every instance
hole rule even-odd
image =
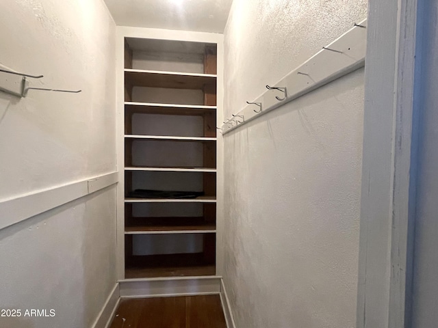
[[[115,29],[101,0],[1,1],[0,64],[82,92],[0,92],[0,201],[116,170]],[[116,284],[115,202],[108,187],[0,230],[0,308],[22,310],[1,327],[92,325]]]

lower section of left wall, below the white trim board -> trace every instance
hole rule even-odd
[[[0,327],[91,327],[116,284],[115,189],[0,230]],[[25,310],[54,310],[29,317]]]

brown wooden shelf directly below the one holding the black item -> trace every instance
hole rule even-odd
[[[131,217],[125,234],[201,234],[216,232],[203,217]]]

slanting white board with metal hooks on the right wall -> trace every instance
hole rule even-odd
[[[363,20],[359,25],[361,27],[352,27],[326,46],[332,50],[322,49],[304,64],[289,72],[283,79],[270,85],[271,87],[285,87],[286,95],[278,90],[266,90],[257,99],[248,99],[249,102],[259,103],[260,106],[246,105],[241,111],[235,113],[236,118],[221,126],[222,134],[229,133],[289,101],[365,66],[367,20]],[[279,101],[276,96],[279,98],[285,96],[285,99]]]

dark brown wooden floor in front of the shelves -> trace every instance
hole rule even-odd
[[[123,299],[110,328],[227,328],[219,295]]]

